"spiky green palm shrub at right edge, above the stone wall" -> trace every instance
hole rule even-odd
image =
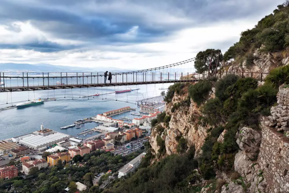
[[[265,79],[266,83],[273,83],[275,87],[289,83],[289,65],[271,70]]]

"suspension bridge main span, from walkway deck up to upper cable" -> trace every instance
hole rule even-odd
[[[144,70],[112,72],[111,80],[104,82],[104,72],[0,72],[0,92],[129,86],[142,84],[194,82],[207,74],[192,72],[194,58]]]

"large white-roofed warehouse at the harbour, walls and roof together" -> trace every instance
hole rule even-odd
[[[49,131],[50,132],[50,131]],[[59,133],[53,131],[52,134],[49,135],[35,135],[27,138],[23,138],[19,140],[19,144],[25,145],[31,149],[40,151],[41,148],[47,147],[58,142],[67,140],[70,136],[64,133]]]

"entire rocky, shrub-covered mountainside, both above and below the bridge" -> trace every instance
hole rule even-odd
[[[271,71],[264,85],[254,76],[236,75],[172,85],[165,97],[166,111],[152,121],[146,164],[104,192],[287,191],[288,143],[278,134],[289,135],[289,103],[284,99],[289,98],[289,88],[281,86],[289,83],[289,67],[284,66],[289,61],[288,18],[288,5],[278,5],[224,54],[226,60],[234,58],[225,71],[270,72],[281,66]],[[276,102],[278,109],[272,107]],[[266,155],[268,144],[280,144],[277,153],[272,149],[274,153]],[[282,165],[277,166],[275,159],[280,157]]]

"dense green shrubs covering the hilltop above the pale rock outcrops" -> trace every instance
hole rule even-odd
[[[224,59],[227,61],[231,58],[246,58],[247,66],[250,66],[252,52],[261,45],[264,45],[261,51],[283,51],[289,45],[288,4],[286,1],[283,5],[278,5],[272,14],[262,18],[253,29],[243,31],[239,42],[228,49]]]

